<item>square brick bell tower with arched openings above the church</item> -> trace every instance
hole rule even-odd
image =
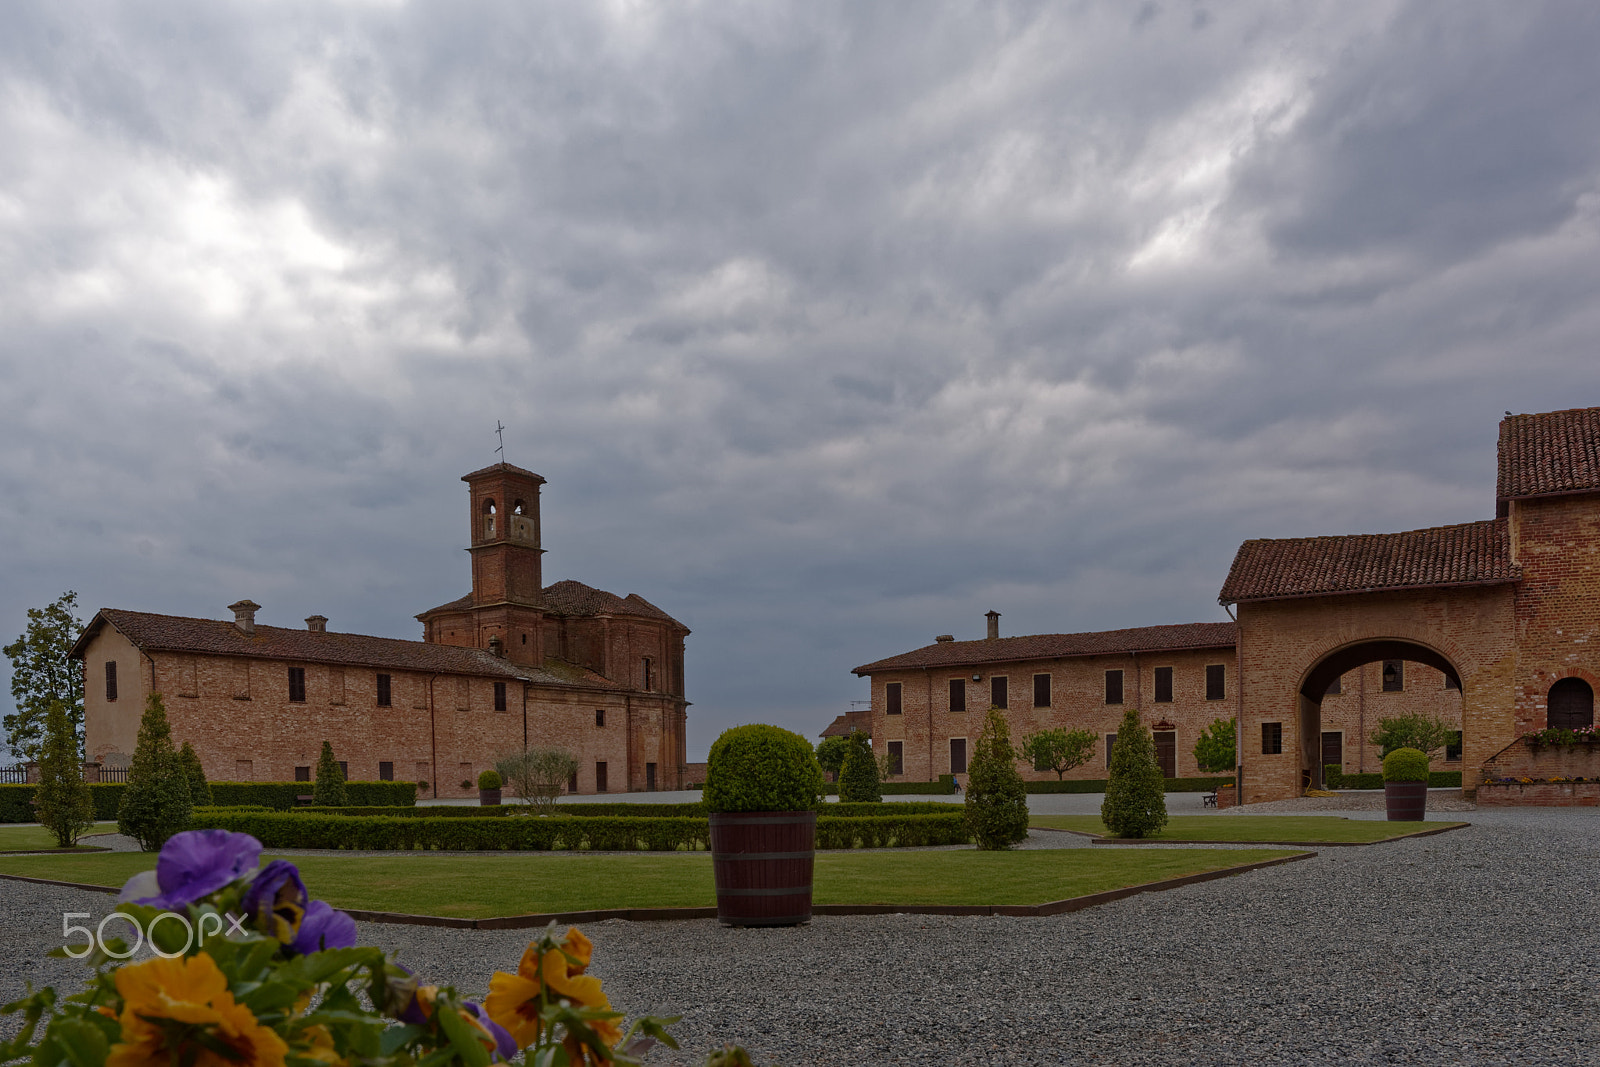
[[[472,606],[539,605],[544,590],[539,486],[544,478],[499,462],[461,480],[470,499]]]

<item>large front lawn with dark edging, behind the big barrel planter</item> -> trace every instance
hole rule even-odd
[[[819,853],[818,904],[1045,904],[1293,856],[1293,849],[1037,849]],[[459,918],[715,904],[707,853],[586,856],[294,856],[314,897],[338,907]],[[0,873],[122,885],[146,853],[5,856]]]

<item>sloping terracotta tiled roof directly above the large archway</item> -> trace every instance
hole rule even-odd
[[[1246,541],[1218,598],[1282,600],[1518,577],[1506,520],[1490,518],[1392,534]]]

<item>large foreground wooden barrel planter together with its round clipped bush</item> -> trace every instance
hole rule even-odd
[[[811,920],[816,808],[822,768],[811,744],[778,726],[734,726],[710,747],[717,920],[726,926],[794,926]]]

